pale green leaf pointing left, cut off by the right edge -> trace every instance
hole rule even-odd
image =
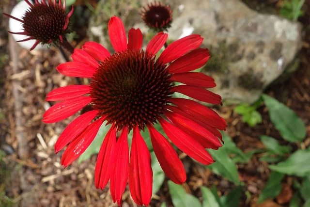
[[[273,171],[287,175],[307,176],[310,173],[310,151],[297,150],[288,159],[277,165],[269,165]]]

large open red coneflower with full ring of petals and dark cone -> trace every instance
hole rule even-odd
[[[95,186],[103,189],[110,180],[112,199],[121,205],[128,180],[133,200],[147,206],[153,173],[150,152],[140,130],[148,128],[155,155],[166,175],[175,183],[184,183],[186,172],[182,161],[154,124],[159,122],[171,142],[188,156],[202,164],[211,164],[214,160],[205,148],[218,149],[222,145],[218,129],[226,128],[224,119],[194,100],[172,95],[181,93],[212,104],[220,104],[221,97],[205,89],[216,86],[212,78],[189,72],[202,67],[210,57],[208,49],[199,48],[200,35],[171,43],[156,59],[168,34],[159,32],[144,51],[139,29],[129,30],[127,43],[123,22],[114,16],[109,20],[108,30],[114,54],[110,55],[98,43],[87,42],[82,49],[75,49],[73,62],[57,67],[65,76],[92,80],[89,85],[70,85],[51,91],[47,100],[61,102],[45,112],[43,122],[61,121],[91,104],[92,110],[72,121],[55,144],[56,153],[69,144],[62,155],[62,165],[66,167],[76,160],[107,121],[110,129],[98,154]],[[174,86],[174,82],[183,85]],[[130,130],[133,139],[129,156]],[[118,138],[117,131],[121,132]]]

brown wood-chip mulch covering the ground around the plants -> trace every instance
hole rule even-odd
[[[245,0],[247,1],[247,0]],[[13,4],[10,2],[10,4]],[[279,0],[255,0],[250,6],[260,11],[277,12]],[[6,4],[4,10],[11,5]],[[8,8],[6,8],[8,7]],[[306,15],[299,20],[305,27],[310,25],[310,2],[304,5]],[[0,20],[2,20],[2,16]],[[6,33],[7,19],[1,22],[0,31],[0,54],[1,57],[9,54],[9,48],[16,47],[9,44]],[[81,42],[86,39],[81,38]],[[303,48],[298,55],[301,60],[299,70],[288,80],[277,85],[270,86],[267,94],[275,96],[279,101],[292,108],[307,125],[307,138],[301,146],[292,145],[294,149],[305,148],[310,145],[310,30],[305,30]],[[0,185],[0,191],[5,188],[6,195],[14,198],[18,206],[23,207],[70,207],[89,206],[101,207],[111,206],[112,201],[109,195],[109,188],[104,191],[96,190],[93,184],[94,166],[96,156],[78,165],[74,162],[71,166],[63,169],[60,160],[62,152],[55,155],[53,145],[63,128],[68,125],[76,116],[70,117],[61,123],[44,124],[41,122],[42,115],[49,103],[45,96],[54,88],[74,84],[75,80],[63,77],[55,66],[64,60],[61,54],[53,49],[43,53],[29,52],[25,49],[14,52],[17,55],[18,73],[13,73],[14,61],[6,63],[3,61],[4,72],[0,76],[0,144],[1,149],[8,154],[3,160],[6,163],[6,172],[9,176],[6,182]],[[1,66],[2,67],[2,66]],[[88,80],[83,80],[87,83]],[[17,84],[18,83],[18,84]],[[13,93],[20,96],[20,113],[16,113],[16,100]],[[263,148],[259,136],[270,135],[278,139],[281,144],[289,144],[281,139],[278,131],[270,122],[266,108],[262,105],[259,108],[263,116],[263,123],[256,127],[248,127],[241,122],[241,117],[233,113],[233,107],[222,107],[218,111],[228,123],[227,132],[233,141],[244,152],[254,148]],[[1,115],[2,114],[2,115]],[[16,134],[16,119],[21,119],[20,134]],[[18,140],[22,139],[22,146]],[[21,147],[28,152],[22,154]],[[22,150],[22,151],[23,151]],[[255,206],[258,195],[263,189],[269,177],[267,163],[260,162],[261,154],[255,154],[247,164],[238,164],[240,180],[245,183],[240,206]],[[227,194],[233,184],[227,179],[213,174],[210,170],[194,163],[188,157],[183,159],[187,172],[187,181],[184,187],[187,192],[201,198],[201,186],[217,186],[219,194]],[[1,176],[5,174],[1,172]],[[0,180],[1,181],[1,180]],[[286,195],[292,192],[292,177],[285,177],[283,185],[286,187]],[[105,193],[108,191],[108,193]],[[1,193],[0,193],[1,196]],[[287,196],[288,197],[288,196]],[[126,199],[127,198],[127,199]],[[290,197],[288,197],[290,199]],[[1,198],[2,200],[3,198]],[[124,206],[132,206],[129,191],[124,193]],[[165,181],[157,196],[151,202],[151,206],[159,206],[162,201],[167,206],[172,206],[170,194]],[[277,201],[277,200],[276,200]],[[289,200],[287,200],[289,201]],[[1,203],[0,203],[1,204]],[[6,203],[9,205],[8,203]],[[282,203],[281,203],[282,205]],[[288,206],[287,203],[283,204]]]

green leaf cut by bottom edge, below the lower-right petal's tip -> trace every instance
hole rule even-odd
[[[171,200],[175,207],[202,207],[198,198],[186,193],[181,185],[168,180],[168,188],[171,194]]]

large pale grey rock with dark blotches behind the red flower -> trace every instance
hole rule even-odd
[[[139,1],[141,6],[147,3]],[[302,44],[302,26],[298,22],[260,14],[240,0],[162,2],[169,3],[173,10],[168,43],[190,33],[204,38],[202,47],[210,49],[211,58],[202,72],[215,79],[217,87],[211,91],[221,95],[224,104],[255,102],[288,66],[295,65]],[[130,27],[140,28],[145,47],[155,32],[137,17],[139,7],[129,8],[121,18],[127,31]]]

